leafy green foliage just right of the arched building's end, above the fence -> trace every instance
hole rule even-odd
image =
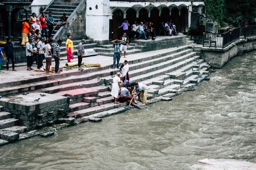
[[[205,0],[206,14],[214,21],[217,20],[220,25],[223,24],[225,15],[225,0]]]

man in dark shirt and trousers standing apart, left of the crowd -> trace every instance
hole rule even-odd
[[[10,71],[9,69],[9,60],[12,60],[12,71],[17,71],[14,68],[14,55],[13,55],[13,44],[11,38],[7,38],[7,42],[5,43],[3,50],[6,52],[6,69],[7,71]]]

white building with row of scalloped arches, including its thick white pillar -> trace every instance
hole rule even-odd
[[[157,32],[160,22],[172,19],[177,31],[186,33],[191,24],[199,24],[192,13],[204,11],[204,0],[87,0],[86,34],[100,44],[107,44],[119,38],[122,28],[118,26],[124,18],[130,25],[134,21],[153,22]]]

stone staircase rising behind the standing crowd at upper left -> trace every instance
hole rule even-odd
[[[55,0],[53,1],[48,8],[44,9],[45,15],[48,15],[49,11],[52,11],[52,17],[55,20],[55,25],[63,16],[63,13],[66,13],[66,17],[70,17],[70,15],[75,11],[76,7],[79,5],[79,2],[65,2],[64,0]],[[54,31],[52,31],[52,37],[58,32],[59,27],[56,27]],[[49,31],[49,30],[48,30]]]

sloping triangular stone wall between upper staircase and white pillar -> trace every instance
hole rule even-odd
[[[86,0],[81,1],[79,6],[68,17],[67,24],[62,26],[53,37],[54,40],[67,40],[67,35],[72,36],[72,40],[86,38]]]

